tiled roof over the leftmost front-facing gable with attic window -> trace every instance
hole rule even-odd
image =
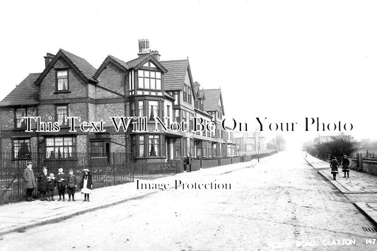
[[[46,69],[42,71],[42,74],[40,74],[39,78],[35,81],[35,84],[39,85],[43,78],[47,75],[47,73],[52,69],[54,64],[57,62],[57,60],[62,57],[74,71],[76,71],[81,78],[83,78],[84,81],[89,82],[95,82],[93,76],[95,74],[95,68],[89,64],[86,59],[83,59],[82,57],[76,56],[75,54],[72,54],[71,52],[67,52],[64,49],[59,49],[59,52],[55,55],[54,59],[50,62],[50,64],[47,65]]]

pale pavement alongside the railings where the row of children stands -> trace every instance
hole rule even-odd
[[[260,162],[268,161],[269,158],[272,158],[272,156],[262,158]],[[205,168],[192,173],[179,173],[169,176],[155,175],[153,182],[156,184],[166,183],[166,181],[171,181],[172,177],[174,177],[175,180],[179,180],[196,175],[197,173],[201,173],[202,175],[222,175],[243,168],[250,168],[253,167],[253,165],[257,165],[257,160],[232,165],[223,165],[215,168]],[[160,191],[159,189],[137,189],[137,180],[151,180],[151,177],[148,176],[145,179],[144,177],[135,177],[134,182],[93,189],[91,202],[83,202],[83,195],[80,192],[76,192],[76,202],[68,202],[68,195],[66,194],[65,202],[58,202],[56,200],[58,197],[55,195],[54,202],[36,200],[35,202],[19,202],[1,205],[0,240],[1,236],[7,233],[23,233],[28,228],[42,226],[49,223],[57,223],[59,221],[64,221],[67,218],[98,209],[104,209],[132,199],[141,199],[149,194]],[[168,189],[173,187],[174,184],[171,184]]]

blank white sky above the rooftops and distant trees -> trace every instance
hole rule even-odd
[[[188,57],[194,81],[221,88],[226,117],[249,130],[259,117],[267,138],[301,144],[339,133],[340,122],[356,139],[377,139],[376,13],[377,1],[356,0],[2,1],[0,100],[43,71],[46,52],[66,49],[98,68],[108,54],[134,59],[148,38],[161,60]],[[331,129],[306,132],[306,117]]]

